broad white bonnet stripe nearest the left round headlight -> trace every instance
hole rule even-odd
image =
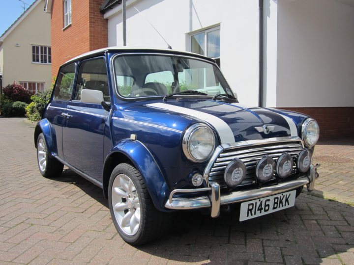
[[[164,103],[153,103],[153,104],[148,104],[147,106],[164,109],[164,110],[170,110],[173,112],[186,114],[195,117],[197,119],[202,119],[215,128],[215,130],[220,136],[221,144],[235,142],[234,133],[232,132],[230,126],[222,119],[215,117],[214,115],[202,111],[186,108],[186,107],[173,106]]]

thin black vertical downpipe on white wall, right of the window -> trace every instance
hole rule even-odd
[[[263,106],[263,0],[259,5],[259,80],[258,80],[258,106]]]

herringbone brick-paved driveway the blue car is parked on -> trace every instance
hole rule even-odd
[[[33,128],[0,118],[0,264],[354,264],[354,143],[316,150],[316,196],[246,222],[181,212],[165,238],[143,247],[122,241],[100,188],[66,169],[38,172]],[[321,197],[336,198],[341,202]]]

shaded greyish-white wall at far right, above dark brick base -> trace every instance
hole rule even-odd
[[[354,7],[343,2],[278,0],[277,107],[354,106]]]

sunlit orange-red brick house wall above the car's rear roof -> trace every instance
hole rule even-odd
[[[52,76],[65,61],[108,45],[108,22],[99,7],[103,0],[72,0],[71,25],[63,28],[63,1],[53,0],[51,10]]]

